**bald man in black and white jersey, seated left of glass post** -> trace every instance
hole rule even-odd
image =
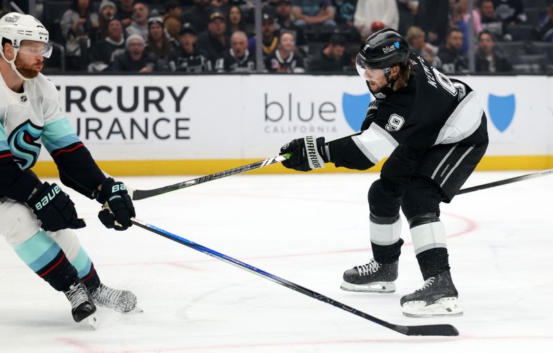
[[[217,60],[215,70],[218,73],[252,73],[255,71],[255,57],[247,50],[247,36],[237,30],[230,37],[230,49]]]

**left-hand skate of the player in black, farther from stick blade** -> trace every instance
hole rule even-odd
[[[397,263],[377,263],[371,259],[368,264],[348,269],[344,272],[344,282],[340,288],[348,292],[393,293]]]

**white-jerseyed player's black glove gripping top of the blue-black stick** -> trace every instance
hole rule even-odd
[[[136,214],[125,184],[116,182],[113,178],[106,178],[102,182],[102,190],[96,191],[95,198],[102,204],[98,218],[106,228],[124,231],[131,227],[131,217]]]

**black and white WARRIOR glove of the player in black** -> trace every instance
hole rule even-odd
[[[297,171],[311,171],[313,169],[323,168],[329,161],[326,155],[324,137],[306,136],[281,147],[281,155],[292,153],[292,156],[282,162],[282,165],[288,169]]]

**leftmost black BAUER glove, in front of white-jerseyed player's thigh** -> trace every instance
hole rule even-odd
[[[57,184],[45,182],[37,187],[27,200],[27,204],[42,222],[45,231],[79,229],[86,227],[82,218],[77,218],[75,204]]]

